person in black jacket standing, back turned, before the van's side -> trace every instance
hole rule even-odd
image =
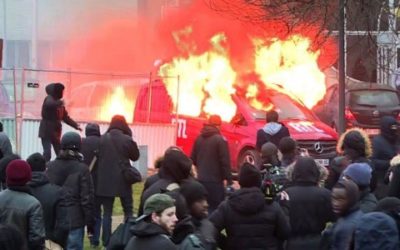
[[[191,158],[197,179],[208,192],[208,211],[212,213],[225,198],[224,180],[232,185],[231,163],[226,139],[219,127],[221,117],[212,115],[194,142]]]

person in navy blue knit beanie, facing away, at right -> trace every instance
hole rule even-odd
[[[357,184],[360,191],[360,210],[364,213],[374,211],[378,200],[370,192],[372,169],[367,163],[352,163],[343,171],[343,177]]]

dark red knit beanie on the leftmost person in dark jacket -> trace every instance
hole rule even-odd
[[[29,164],[24,160],[13,160],[7,165],[6,183],[7,186],[25,186],[32,178],[32,171]]]

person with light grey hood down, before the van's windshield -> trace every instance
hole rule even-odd
[[[267,123],[257,131],[256,148],[258,150],[261,150],[262,145],[266,142],[272,142],[278,147],[283,137],[290,136],[289,129],[278,122],[278,119],[279,115],[275,110],[267,112]]]

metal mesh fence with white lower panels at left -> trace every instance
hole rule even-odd
[[[11,138],[14,151],[23,157],[41,150],[37,138],[38,121],[47,95],[45,88],[53,82],[64,84],[66,109],[74,120],[82,124],[107,124],[114,114],[124,115],[128,123],[133,124],[134,131],[145,135],[140,137],[139,143],[148,146],[150,164],[161,147],[175,143],[176,129],[171,129],[175,127],[171,124],[171,98],[162,79],[156,79],[152,73],[105,74],[0,68],[0,79],[0,120]],[[177,90],[173,92],[178,95],[179,81],[176,79]],[[68,128],[66,126],[63,132]]]

